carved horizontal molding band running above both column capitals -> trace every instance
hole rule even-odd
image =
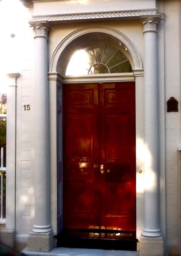
[[[157,9],[142,9],[142,10],[125,10],[125,11],[104,11],[91,13],[71,13],[58,15],[38,15],[32,16],[33,20],[30,23],[51,22],[51,21],[71,21],[79,19],[106,19],[106,18],[139,18],[141,16],[157,15]]]

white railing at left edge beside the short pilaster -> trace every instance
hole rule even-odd
[[[6,119],[6,114],[0,114],[0,118]],[[5,167],[5,151],[6,148],[0,149],[0,224],[6,222],[6,167]]]

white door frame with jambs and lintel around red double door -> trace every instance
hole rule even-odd
[[[122,76],[121,76],[122,75]],[[135,81],[136,87],[136,236],[140,238],[143,227],[143,93],[144,81],[143,71],[133,71],[133,73],[112,75],[104,77],[102,75],[83,78],[63,79],[58,73],[49,73],[49,104],[50,104],[50,180],[51,180],[51,224],[53,232],[57,235],[63,228],[63,179],[62,179],[62,88],[68,83],[113,83]],[[71,82],[70,82],[71,80]],[[59,170],[59,171],[57,171]],[[55,200],[56,198],[56,200]]]

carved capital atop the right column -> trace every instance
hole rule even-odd
[[[160,21],[159,16],[141,16],[141,22],[143,24],[143,34],[146,32],[157,33],[157,25]]]

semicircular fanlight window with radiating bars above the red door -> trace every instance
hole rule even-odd
[[[73,53],[65,75],[80,76],[125,72],[132,72],[132,68],[123,52],[107,44],[95,44]]]

